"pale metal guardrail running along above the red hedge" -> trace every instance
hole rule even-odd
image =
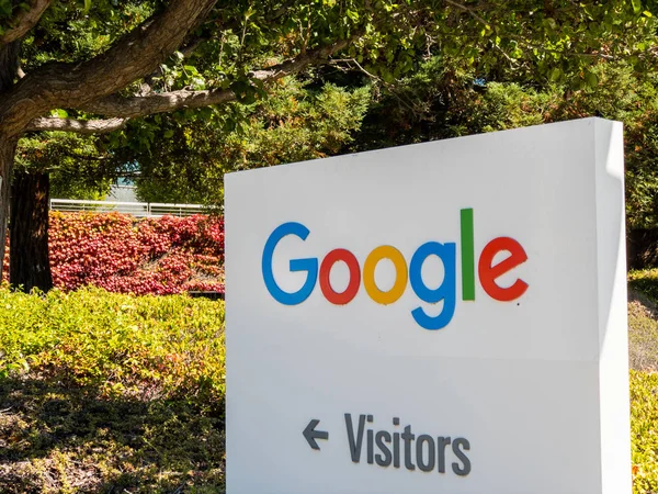
[[[94,213],[124,213],[137,217],[191,216],[205,214],[201,204],[166,204],[160,202],[116,202],[116,201],[79,201],[76,199],[50,199],[52,211],[63,212],[94,212]]]

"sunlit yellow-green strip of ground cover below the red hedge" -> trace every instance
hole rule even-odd
[[[101,396],[185,397],[220,407],[224,305],[100,289],[0,290],[0,377],[64,373]]]

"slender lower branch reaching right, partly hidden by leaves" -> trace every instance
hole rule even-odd
[[[256,70],[250,72],[250,77],[260,80],[265,85],[273,82],[282,77],[304,70],[309,65],[325,63],[333,53],[344,48],[358,37],[359,35],[354,35],[348,40],[341,40],[331,45],[307,52],[304,55],[285,60],[282,64]],[[69,108],[76,108],[78,110],[104,116],[126,119],[146,116],[154,113],[164,113],[183,108],[202,108],[211,104],[227,103],[229,101],[235,101],[236,99],[237,94],[230,89],[209,89],[205,91],[180,90],[159,94],[151,93],[143,97],[122,97],[112,94],[89,103]]]

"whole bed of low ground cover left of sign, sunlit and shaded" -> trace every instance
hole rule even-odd
[[[224,492],[224,304],[0,289],[0,492]]]

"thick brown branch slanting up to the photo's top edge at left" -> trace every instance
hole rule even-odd
[[[81,64],[47,64],[21,79],[0,101],[8,135],[53,108],[75,108],[112,94],[151,74],[217,0],[171,0],[167,8]]]

